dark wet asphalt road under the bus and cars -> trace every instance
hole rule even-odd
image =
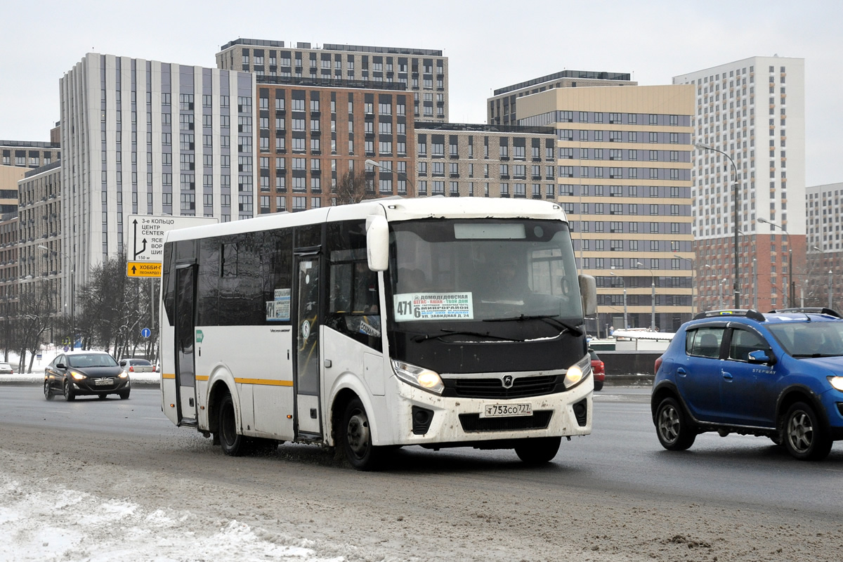
[[[659,445],[649,413],[649,389],[606,388],[595,393],[591,436],[562,442],[549,467],[525,472],[511,451],[470,448],[439,452],[405,447],[395,454],[387,472],[438,473],[443,470],[483,472],[495,478],[534,479],[542,485],[572,486],[612,493],[668,495],[689,501],[715,501],[775,510],[781,506],[813,513],[843,515],[843,442],[820,463],[793,460],[782,447],[762,437],[716,433],[698,436],[687,452],[668,452]],[[79,397],[67,403],[46,401],[38,387],[0,387],[0,425],[41,430],[73,431],[96,440],[125,436],[166,442],[185,455],[212,447],[196,431],[173,426],[160,411],[157,388],[133,388],[128,400],[110,396]],[[286,444],[279,462],[333,462],[318,447]],[[321,458],[320,458],[321,457]]]

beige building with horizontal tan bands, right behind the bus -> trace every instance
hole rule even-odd
[[[534,82],[502,89],[517,99],[519,125],[556,131],[557,201],[578,265],[598,285],[598,325],[589,331],[674,331],[693,311],[693,88]]]

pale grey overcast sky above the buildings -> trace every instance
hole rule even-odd
[[[239,37],[441,49],[450,120],[468,123],[486,122],[494,88],[565,69],[668,84],[777,54],[805,59],[806,185],[830,184],[843,181],[841,20],[840,0],[34,0],[3,8],[0,139],[48,141],[59,119],[59,78],[87,52],[214,67],[220,46]]]

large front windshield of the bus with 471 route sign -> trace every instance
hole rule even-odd
[[[544,320],[539,335],[547,337],[558,335],[565,324],[583,322],[565,222],[395,222],[390,254],[395,329],[436,334],[458,327],[467,332],[473,325],[494,334],[491,323],[529,318]],[[512,329],[504,331],[513,335]]]

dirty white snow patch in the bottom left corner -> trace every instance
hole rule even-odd
[[[208,522],[190,511],[154,511],[127,500],[52,489],[0,474],[0,560],[8,562],[341,562],[320,558],[306,539],[234,519]]]

